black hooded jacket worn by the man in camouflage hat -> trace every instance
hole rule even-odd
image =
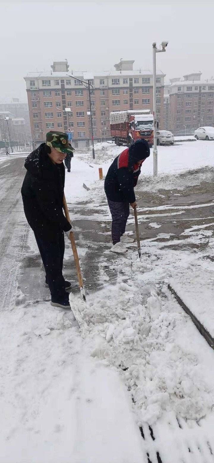
[[[42,143],[25,159],[24,167],[21,194],[26,219],[40,238],[54,241],[57,233],[71,229],[62,209],[65,166],[52,163]]]

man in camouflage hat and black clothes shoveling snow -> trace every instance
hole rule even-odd
[[[27,170],[22,189],[26,219],[32,228],[46,272],[45,286],[51,304],[70,308],[68,290],[71,283],[62,275],[65,251],[64,232],[74,232],[63,213],[65,166],[63,161],[74,149],[66,133],[49,131],[42,143],[25,159]]]

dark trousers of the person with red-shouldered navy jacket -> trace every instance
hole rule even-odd
[[[129,217],[129,203],[108,200],[108,206],[112,214],[112,242],[116,244],[125,233],[125,225]]]

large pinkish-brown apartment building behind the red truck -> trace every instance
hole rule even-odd
[[[120,60],[114,71],[96,72],[91,88],[92,126],[95,142],[110,138],[110,112],[150,109],[153,112],[153,78],[150,70],[133,70],[134,61]],[[54,62],[50,72],[29,73],[26,82],[30,127],[36,146],[48,130],[72,131],[73,146],[90,144],[89,90],[83,71],[69,71],[67,62]],[[157,71],[157,119],[163,127],[164,77]],[[70,108],[71,111],[65,111]]]

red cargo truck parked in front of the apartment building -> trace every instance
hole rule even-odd
[[[111,136],[115,144],[123,143],[130,146],[139,138],[148,141],[149,146],[154,141],[154,117],[150,109],[132,109],[110,113]]]

